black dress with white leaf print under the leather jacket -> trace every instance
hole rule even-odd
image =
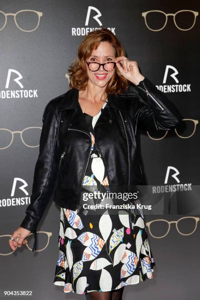
[[[94,126],[106,104],[107,100],[94,117],[84,113],[92,148],[82,193],[109,191],[108,176],[94,136]],[[83,208],[84,203],[98,202],[95,197],[89,202],[82,200],[75,211],[61,207],[59,256],[53,283],[62,286],[64,293],[117,290],[154,277],[155,263],[142,209],[119,210],[112,214],[111,209]],[[139,200],[134,202],[135,205],[140,203]]]

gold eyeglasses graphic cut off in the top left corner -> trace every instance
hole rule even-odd
[[[26,31],[26,32],[31,32],[31,31],[36,30],[37,27],[39,26],[40,18],[42,17],[42,12],[37,11],[37,10],[32,10],[32,9],[23,9],[23,10],[19,10],[18,12],[14,13],[14,14],[13,13],[6,14],[0,10],[0,24],[2,24],[0,26],[0,30],[2,30],[6,25],[7,16],[14,16],[15,24],[20,30]],[[32,20],[34,22],[34,28],[33,29],[22,28],[22,24],[24,25],[26,20],[30,24],[31,18],[34,19],[34,20]]]

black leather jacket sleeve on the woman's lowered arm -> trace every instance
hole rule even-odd
[[[35,165],[30,204],[25,210],[21,227],[35,234],[40,219],[52,196],[58,172],[58,121],[51,101],[43,113],[43,126],[40,136],[39,156]],[[36,241],[35,241],[36,243]],[[34,244],[34,248],[36,245]]]

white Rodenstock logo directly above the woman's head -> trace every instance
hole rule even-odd
[[[90,19],[93,18],[97,22],[98,27],[72,27],[72,36],[87,35],[90,31],[100,29],[102,26],[100,21],[101,16],[102,15],[98,8],[94,6],[88,6],[85,26],[88,26]],[[107,27],[107,29],[111,30],[112,33],[115,34],[115,27]]]

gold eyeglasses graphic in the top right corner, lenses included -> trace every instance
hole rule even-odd
[[[144,17],[144,19],[145,19],[146,26],[152,31],[162,30],[167,24],[168,16],[173,16],[175,26],[179,30],[184,30],[184,31],[185,30],[190,30],[195,25],[196,18],[197,18],[198,15],[199,15],[198,11],[188,10],[188,9],[178,10],[175,14],[166,14],[162,10],[149,10],[149,11],[146,11],[146,12],[142,13],[142,17]],[[181,20],[181,18],[182,18],[182,20]],[[190,24],[188,24],[188,28],[182,28],[181,27],[182,24],[180,25],[180,23],[182,21],[184,21],[182,23],[185,25],[186,20],[188,20],[188,22],[190,22]],[[152,28],[151,27],[152,24],[150,26],[150,23],[155,23],[155,22],[156,22],[156,25],[159,26],[158,29]]]

